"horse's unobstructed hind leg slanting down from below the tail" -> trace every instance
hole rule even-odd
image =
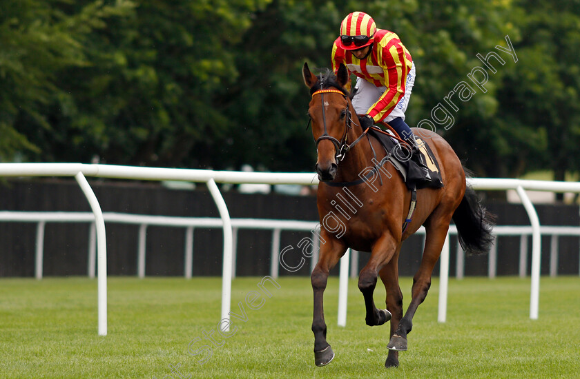
[[[441,255],[441,249],[443,249],[443,243],[445,243],[450,221],[450,217],[432,217],[429,219],[427,225],[425,225],[427,236],[425,238],[423,259],[413,278],[411,303],[405,312],[405,316],[400,320],[397,330],[389,341],[389,345],[387,345],[391,350],[407,350],[407,334],[413,328],[413,316],[418,306],[423,303],[429,287],[431,287],[431,274]]]

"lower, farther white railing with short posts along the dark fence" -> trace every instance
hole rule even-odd
[[[115,212],[104,212],[104,221],[107,224],[121,223],[129,225],[139,225],[137,234],[137,276],[145,277],[145,258],[146,258],[146,232],[150,226],[163,227],[184,227],[186,229],[184,243],[184,278],[191,279],[193,267],[193,232],[197,228],[221,228],[223,222],[221,218],[209,217],[181,217],[181,216],[149,216],[143,214],[122,214]],[[35,278],[43,277],[43,243],[44,229],[46,223],[89,223],[88,238],[88,267],[87,275],[89,278],[95,278],[95,252],[96,252],[96,232],[95,232],[95,215],[90,212],[22,212],[22,211],[0,211],[0,222],[16,223],[36,223],[36,243],[35,243]],[[316,240],[318,234],[314,233],[318,227],[318,221],[300,221],[300,220],[273,220],[266,218],[232,218],[232,278],[236,275],[237,260],[237,236],[239,229],[262,229],[270,230],[271,236],[271,256],[270,256],[270,276],[278,278],[280,261],[278,253],[280,252],[280,233],[282,231],[311,232],[312,240]],[[519,276],[525,277],[528,264],[528,236],[532,235],[530,226],[508,226],[496,225],[494,227],[495,236],[519,236],[520,237],[520,254],[519,254]],[[421,227],[416,232],[418,235],[425,236],[425,229]],[[457,229],[451,225],[449,230],[450,236],[457,235]],[[580,226],[541,226],[541,236],[550,237],[550,276],[558,275],[558,247],[560,236],[580,237]],[[425,243],[425,240],[423,240]],[[317,246],[318,247],[318,246]],[[311,267],[316,265],[316,254],[311,259]],[[352,251],[349,264],[349,276],[356,277],[358,273],[358,252]],[[487,276],[495,278],[497,272],[497,245],[494,243],[489,254],[487,254]],[[579,256],[580,260],[580,256]],[[462,279],[465,274],[465,252],[461,245],[457,244],[456,249],[456,272],[455,276]],[[580,272],[579,272],[580,275]]]

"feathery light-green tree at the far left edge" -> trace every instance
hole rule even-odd
[[[0,14],[0,158],[50,159],[55,139],[66,134],[55,122],[53,108],[67,105],[70,94],[60,72],[89,64],[86,36],[103,26],[103,20],[123,14],[128,5],[104,6],[88,2],[67,12],[68,1],[5,1]]]

